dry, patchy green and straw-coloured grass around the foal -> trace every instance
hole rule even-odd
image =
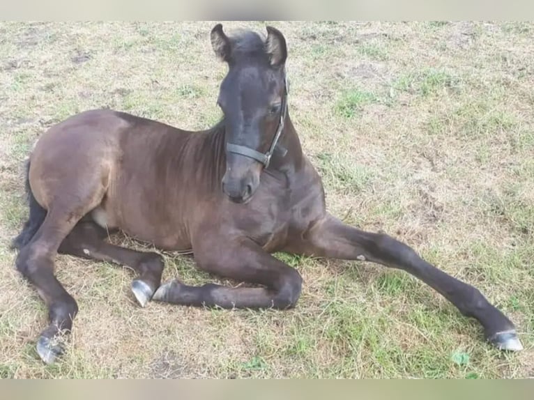
[[[8,248],[27,215],[31,144],[98,107],[207,128],[226,66],[213,22],[1,22],[0,377],[534,377],[534,24],[269,24],[288,41],[291,117],[329,210],[477,286],[525,350],[494,350],[427,286],[371,263],[280,254],[305,279],[296,309],[210,311],[140,309],[129,270],[58,256],[80,311],[66,356],[45,366],[35,340],[47,312]],[[165,259],[165,280],[213,281]]]

